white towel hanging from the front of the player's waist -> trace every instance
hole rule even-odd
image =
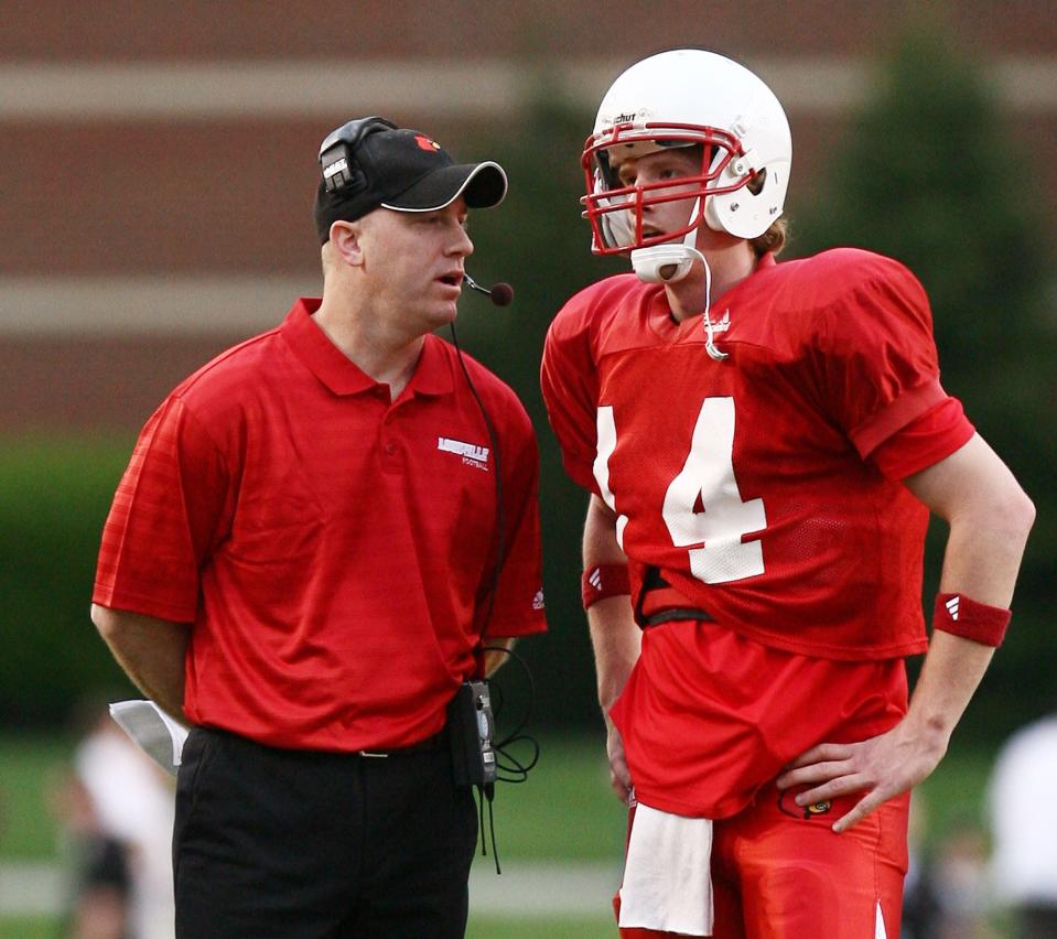
[[[712,821],[638,803],[621,886],[622,927],[712,935]]]

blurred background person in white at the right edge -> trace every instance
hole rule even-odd
[[[1057,937],[1057,706],[1002,746],[988,787],[996,899],[1018,939]]]

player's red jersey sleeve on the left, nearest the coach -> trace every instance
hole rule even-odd
[[[565,472],[574,483],[597,494],[598,373],[589,312],[578,295],[554,317],[543,344],[540,387]]]

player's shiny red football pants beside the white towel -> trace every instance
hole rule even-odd
[[[909,794],[842,834],[830,827],[861,796],[813,813],[798,808],[794,795],[764,787],[754,805],[713,824],[714,939],[898,939]],[[877,931],[878,904],[884,932]],[[613,906],[619,917],[619,894]],[[624,939],[678,935],[619,931]]]

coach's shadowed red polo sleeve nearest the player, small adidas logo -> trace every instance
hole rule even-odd
[[[505,561],[485,638],[547,628],[539,525],[539,451],[525,408],[511,402],[501,423]],[[487,585],[490,589],[490,584]]]

